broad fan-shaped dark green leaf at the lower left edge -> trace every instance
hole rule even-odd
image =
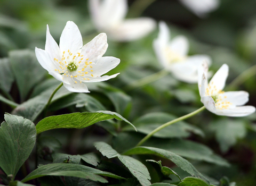
[[[5,114],[4,119],[0,127],[0,167],[14,178],[35,145],[36,128],[20,116]]]

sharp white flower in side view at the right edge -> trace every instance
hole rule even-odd
[[[247,116],[255,112],[253,106],[242,106],[249,100],[246,91],[222,91],[228,77],[228,65],[223,64],[213,75],[209,84],[206,73],[208,67],[205,63],[198,68],[198,88],[201,102],[212,113],[232,117]]]

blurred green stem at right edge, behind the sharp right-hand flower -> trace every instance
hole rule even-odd
[[[256,74],[256,65],[251,66],[249,69],[245,70],[243,73],[238,75],[229,85],[226,87],[227,90],[235,89],[240,84],[245,82],[247,79],[251,78]]]

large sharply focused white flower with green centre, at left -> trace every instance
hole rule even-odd
[[[115,78],[105,75],[120,62],[115,57],[102,57],[108,47],[106,33],[100,33],[83,46],[83,40],[76,24],[68,21],[60,37],[60,46],[46,31],[45,50],[36,47],[38,62],[49,74],[72,92],[90,92],[85,83],[106,81]]]

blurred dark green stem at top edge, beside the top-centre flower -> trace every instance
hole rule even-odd
[[[147,7],[155,1],[156,0],[135,1],[130,7],[129,16],[132,16],[134,18],[140,16],[142,12],[145,11],[145,9],[147,9]]]

